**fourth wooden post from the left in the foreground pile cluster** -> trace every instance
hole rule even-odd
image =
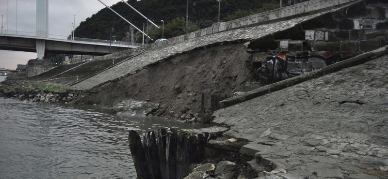
[[[166,179],[177,179],[177,130],[169,128],[166,139]]]

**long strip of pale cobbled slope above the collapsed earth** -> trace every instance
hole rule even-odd
[[[211,35],[189,39],[176,45],[147,50],[144,53],[105,71],[104,73],[97,74],[78,84],[75,84],[74,87],[84,90],[91,89],[107,81],[114,80],[128,74],[136,74],[147,65],[157,63],[160,60],[168,59],[183,52],[194,50],[195,48],[203,48],[208,45],[223,45],[226,42],[236,42],[238,40],[241,40],[240,43],[242,43],[243,41],[259,39],[271,33],[287,30],[301,22],[338,10],[339,8],[314,15],[307,15],[291,20],[275,22],[272,24],[263,24],[251,28],[223,31]]]

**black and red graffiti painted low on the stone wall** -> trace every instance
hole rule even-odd
[[[288,51],[277,53],[269,51],[266,62],[257,70],[259,81],[271,84],[294,76],[306,74],[338,61],[354,57],[351,51],[323,52],[319,55],[310,55],[309,52],[297,52],[290,55]]]

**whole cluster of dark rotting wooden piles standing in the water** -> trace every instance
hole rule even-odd
[[[140,135],[129,131],[129,149],[138,179],[183,179],[190,174],[190,164],[205,159],[209,133],[193,135],[176,129],[160,129]]]

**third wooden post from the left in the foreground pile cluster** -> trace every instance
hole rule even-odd
[[[167,131],[166,129],[160,129],[158,131],[158,155],[159,155],[159,165],[161,169],[161,178],[166,179],[166,139]]]

